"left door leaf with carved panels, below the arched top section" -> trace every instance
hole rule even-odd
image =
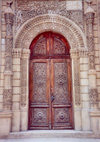
[[[47,60],[33,60],[30,63],[30,129],[48,129],[48,62]]]

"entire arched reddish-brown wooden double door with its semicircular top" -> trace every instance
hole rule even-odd
[[[46,32],[36,37],[30,49],[29,129],[72,129],[68,42]]]

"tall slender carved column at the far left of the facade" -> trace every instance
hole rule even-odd
[[[5,79],[4,79],[4,110],[11,110],[12,107],[12,48],[13,48],[13,18],[11,9],[12,2],[7,2],[5,11],[6,21],[6,50],[5,50]]]

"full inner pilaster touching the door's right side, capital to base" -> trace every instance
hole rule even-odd
[[[79,66],[79,52],[77,49],[70,51],[72,59],[72,79],[73,79],[73,101],[74,101],[74,122],[75,130],[82,129],[81,118],[81,98],[80,98],[80,66]]]

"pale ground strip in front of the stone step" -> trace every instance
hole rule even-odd
[[[83,138],[25,138],[25,139],[2,139],[0,142],[100,142],[100,139]]]

